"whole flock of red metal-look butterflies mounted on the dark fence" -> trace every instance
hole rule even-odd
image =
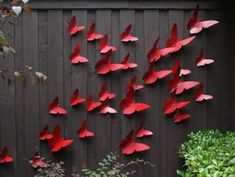
[[[187,29],[190,31],[190,34],[196,34],[202,31],[203,28],[211,27],[217,23],[216,20],[207,20],[200,21],[198,19],[198,11],[199,6],[197,5],[194,10],[192,17],[188,21]],[[122,42],[132,42],[137,41],[138,38],[131,35],[131,25],[128,25],[124,32],[122,32],[120,38]],[[84,30],[84,26],[76,25],[76,17],[72,17],[69,25],[68,32],[69,34],[75,35],[78,32]],[[166,43],[165,48],[159,48],[158,39],[154,42],[152,48],[147,53],[147,59],[150,62],[150,66],[148,70],[143,75],[142,80],[146,85],[156,83],[159,79],[163,79],[169,75],[172,75],[172,79],[168,82],[168,90],[170,93],[170,97],[163,105],[163,111],[165,115],[172,115],[175,123],[179,123],[183,120],[186,120],[190,117],[190,114],[182,114],[180,110],[191,103],[189,100],[176,101],[176,95],[182,94],[185,90],[192,89],[197,87],[194,99],[197,102],[201,102],[203,100],[210,100],[213,97],[211,95],[204,94],[203,83],[197,81],[184,81],[183,76],[191,73],[188,69],[181,68],[180,60],[176,59],[175,65],[168,70],[160,70],[157,71],[154,68],[155,62],[159,61],[162,57],[175,53],[179,51],[183,46],[190,44],[196,36],[191,36],[186,39],[178,38],[177,33],[177,25],[174,24],[172,27],[170,38]],[[108,36],[97,34],[95,32],[95,23],[92,23],[89,30],[86,33],[87,41],[94,41],[101,39],[101,42],[98,46],[100,53],[104,54],[102,59],[100,59],[96,65],[95,69],[98,74],[107,74],[111,71],[117,70],[127,70],[131,68],[136,68],[138,65],[136,63],[129,62],[130,54],[128,53],[121,63],[112,63],[111,54],[116,51],[116,47],[108,45]],[[88,59],[80,55],[80,45],[78,44],[73,53],[70,55],[70,61],[73,64],[78,63],[86,63]],[[208,64],[213,63],[214,60],[207,59],[204,56],[204,50],[201,49],[198,57],[195,60],[197,67],[202,67]],[[149,104],[139,103],[135,100],[135,92],[137,90],[141,90],[144,86],[137,84],[136,76],[132,77],[130,82],[126,85],[125,89],[127,90],[125,98],[123,98],[120,102],[120,109],[123,114],[131,115],[134,112],[143,111],[150,107]],[[99,92],[99,101],[94,101],[92,99],[91,94],[88,95],[87,99],[80,97],[79,90],[76,89],[70,99],[71,106],[75,107],[79,104],[86,102],[86,110],[88,112],[93,111],[96,108],[99,108],[99,113],[101,114],[114,114],[117,111],[109,105],[109,101],[113,99],[116,95],[114,93],[107,91],[107,84],[104,83]],[[66,114],[66,110],[59,105],[59,99],[56,97],[53,102],[49,105],[49,113],[50,114]],[[77,136],[80,139],[93,137],[95,134],[87,129],[87,122],[84,121],[81,127],[77,130]],[[150,149],[150,147],[143,143],[138,143],[133,138],[134,130],[131,130],[130,133],[126,136],[124,140],[120,143],[120,149],[123,154],[132,154],[134,152],[141,152]],[[143,124],[136,130],[135,137],[141,138],[144,136],[150,136],[153,133],[149,130],[145,130]],[[48,133],[48,125],[46,125],[43,130],[39,134],[40,140],[47,140],[48,146],[52,152],[57,152],[62,148],[67,147],[74,140],[72,139],[64,139],[61,135],[61,128],[59,125],[56,125],[52,134]],[[5,147],[0,154],[0,164],[1,163],[9,163],[12,162],[13,158],[8,155],[8,149]],[[45,167],[46,164],[43,162],[43,159],[40,157],[38,152],[35,153],[34,157],[31,159],[32,166],[34,168],[37,167]]]

